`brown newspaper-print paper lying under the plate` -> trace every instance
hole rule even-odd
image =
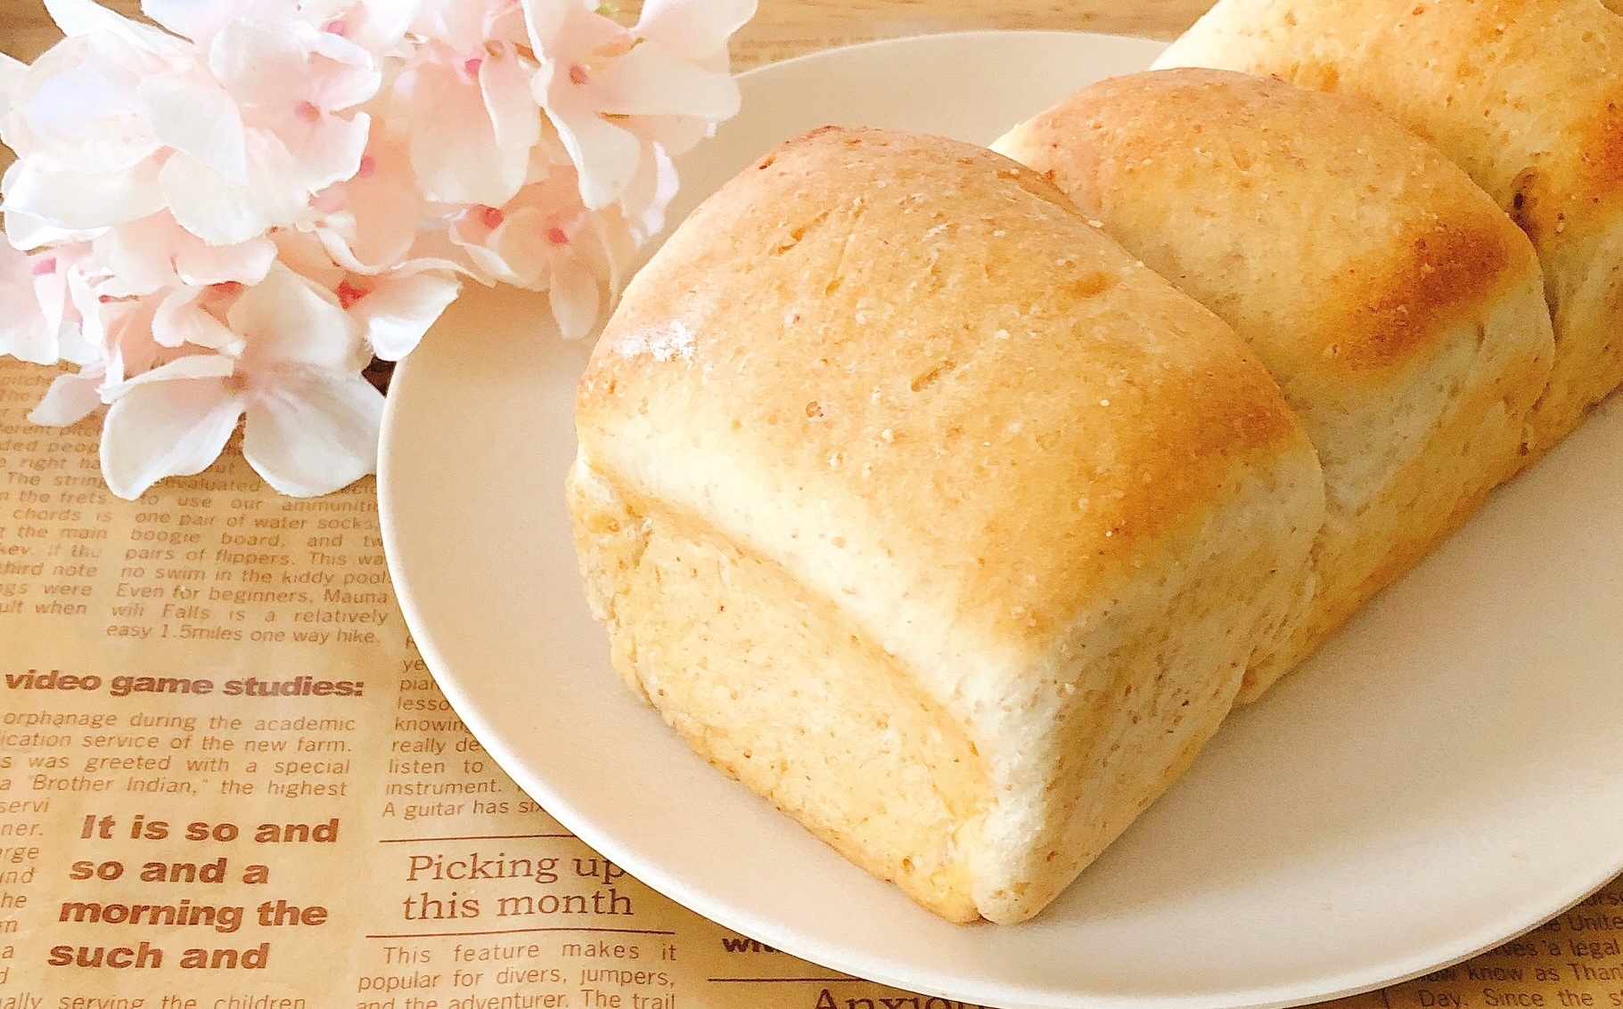
[[[370,480],[281,498],[227,451],[120,501],[94,420],[26,420],[49,378],[0,362],[0,1009],[958,1009],[729,933],[519,792],[412,647]],[[1613,884],[1352,1003],[1623,1009],[1620,939]]]

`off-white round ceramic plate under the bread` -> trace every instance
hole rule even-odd
[[[966,34],[768,67],[683,165],[685,206],[805,128],[987,143],[1157,49]],[[390,565],[430,668],[519,785],[722,925],[992,1006],[1284,1006],[1464,959],[1623,869],[1623,412],[1237,712],[1035,921],[959,928],[711,771],[610,670],[562,496],[586,350],[524,295],[451,310],[390,396]]]

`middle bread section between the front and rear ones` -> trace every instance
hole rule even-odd
[[[1414,566],[1522,461],[1550,376],[1527,237],[1368,104],[1279,79],[1100,81],[993,149],[1245,337],[1324,469],[1313,581],[1240,701]]]

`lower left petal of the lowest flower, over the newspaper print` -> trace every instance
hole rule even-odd
[[[102,425],[107,488],[133,501],[164,477],[203,472],[226,448],[242,409],[243,397],[232,394],[219,378],[128,389],[107,410]]]

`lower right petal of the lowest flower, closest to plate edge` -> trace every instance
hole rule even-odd
[[[383,394],[360,376],[255,389],[242,454],[279,493],[313,498],[377,470]]]

